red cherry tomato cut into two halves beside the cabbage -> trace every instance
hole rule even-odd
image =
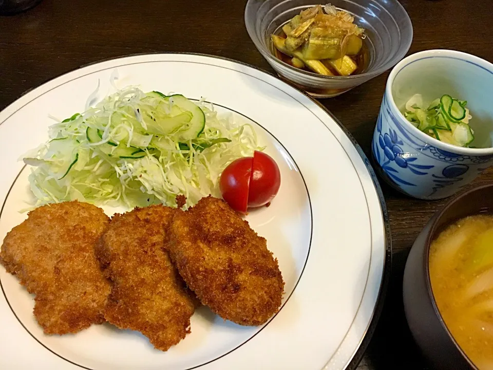
[[[253,158],[233,161],[222,172],[219,189],[235,211],[247,213],[249,207],[268,204],[279,191],[281,174],[277,163],[267,154],[255,151]]]

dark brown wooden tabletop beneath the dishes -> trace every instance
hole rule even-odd
[[[414,28],[409,53],[449,48],[493,61],[486,35],[491,0],[402,0]],[[244,26],[246,0],[44,0],[0,17],[0,109],[62,73],[132,53],[188,51],[250,63],[273,73]],[[342,96],[321,100],[370,155],[388,72]],[[493,181],[487,170],[475,183]],[[444,201],[420,201],[382,183],[392,229],[393,265],[381,320],[360,369],[428,369],[410,336],[402,274],[414,238]]]

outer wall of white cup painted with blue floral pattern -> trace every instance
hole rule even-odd
[[[400,119],[392,113],[385,94],[372,153],[381,177],[405,194],[421,199],[448,197],[493,164],[493,155],[460,155],[432,146]]]

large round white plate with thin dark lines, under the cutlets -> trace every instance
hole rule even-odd
[[[346,368],[368,336],[390,268],[380,189],[368,160],[326,110],[250,66],[194,54],[138,55],[75,70],[18,99],[0,113],[0,239],[26,218],[18,211],[30,199],[29,169],[17,159],[46,140],[53,123],[48,115],[63,119],[83,110],[98,80],[99,98],[109,93],[116,69],[120,87],[205,97],[237,121],[253,121],[260,143],[279,164],[282,184],[271,207],[247,218],[279,260],[283,306],[261,327],[224,322],[202,307],[192,318],[192,333],[164,353],[139,333],[109,324],[77,335],[43,335],[31,295],[2,267],[0,367]]]

